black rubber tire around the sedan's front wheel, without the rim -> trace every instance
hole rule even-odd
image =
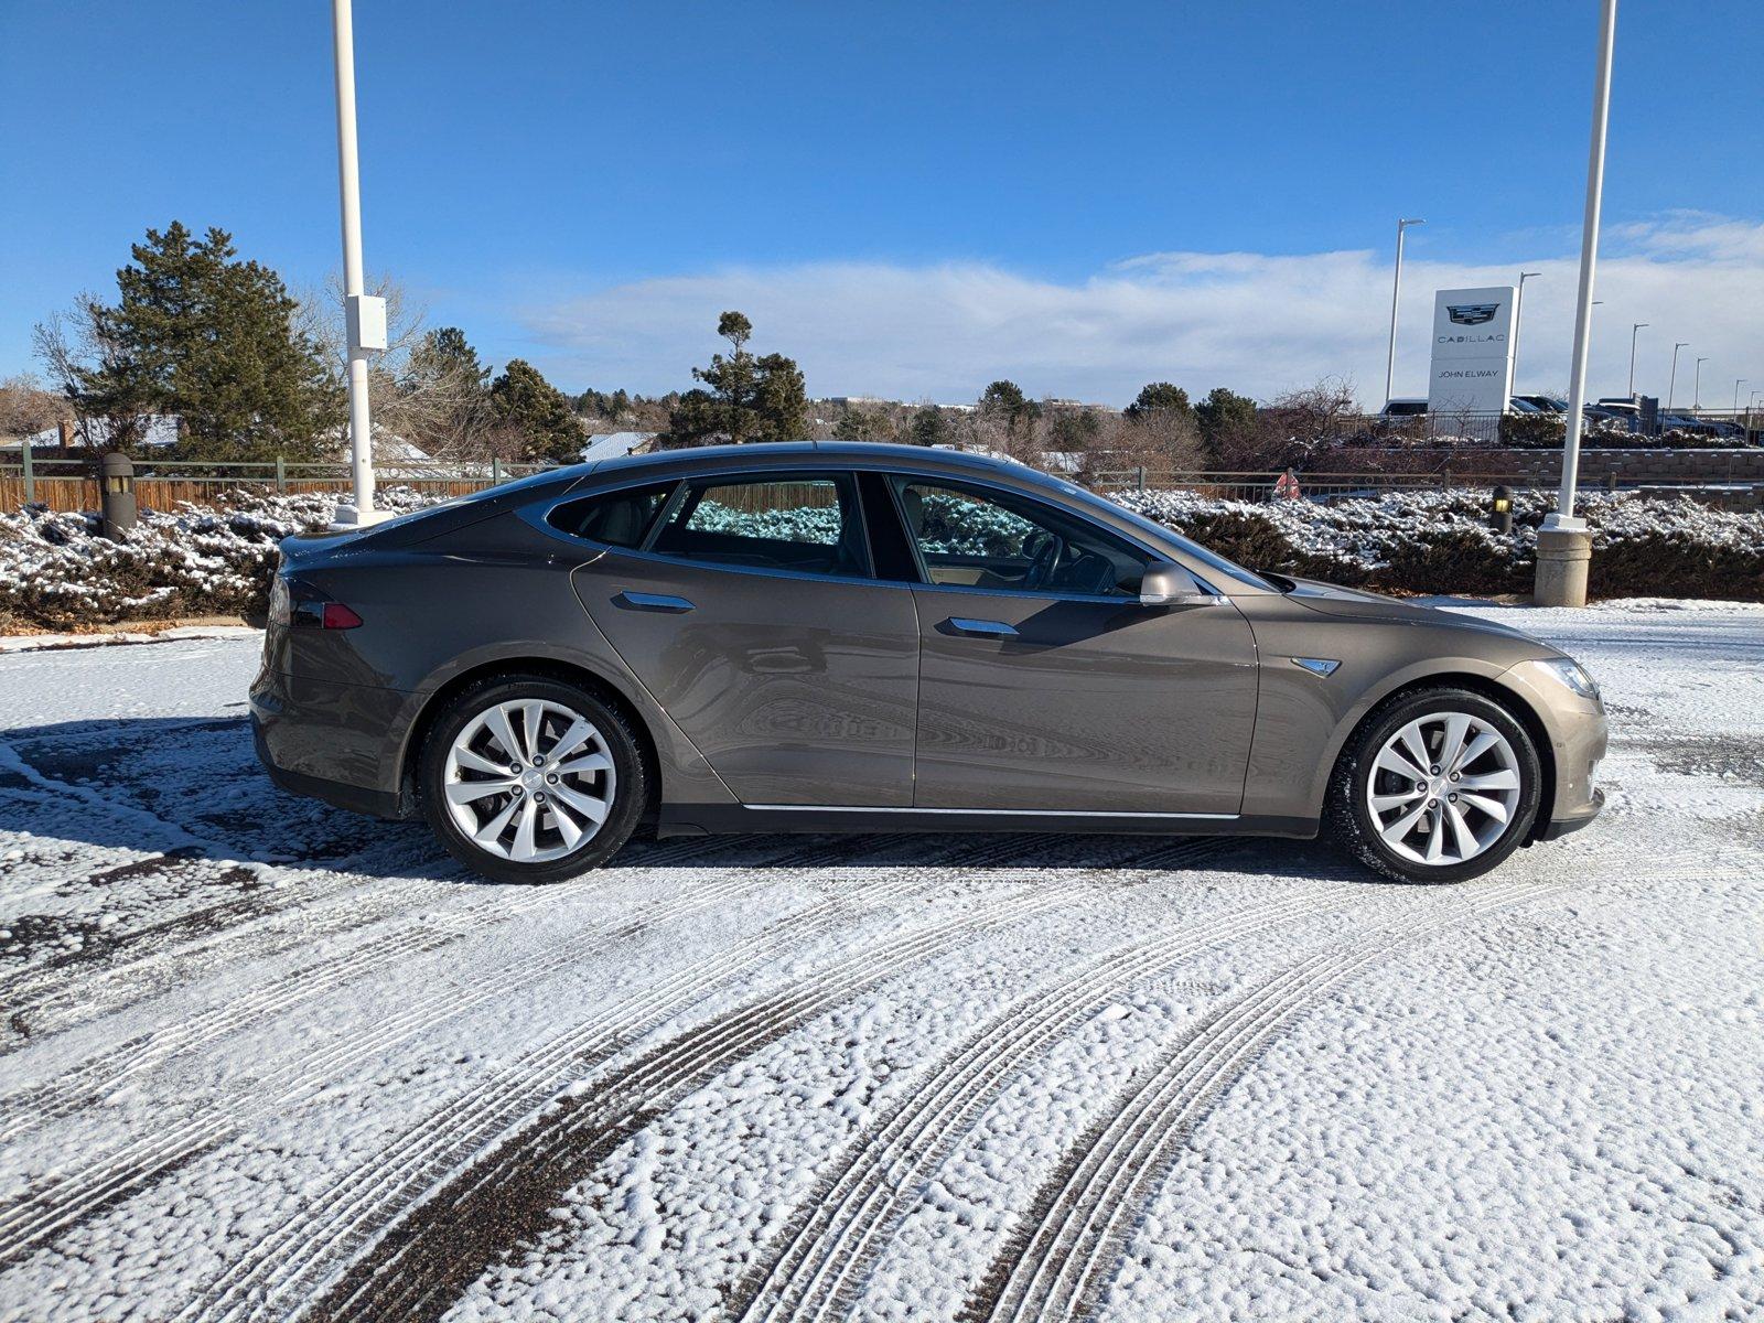
[[[1487,721],[1506,739],[1519,764],[1519,796],[1501,834],[1475,857],[1450,864],[1416,863],[1392,850],[1379,836],[1367,803],[1371,760],[1409,721],[1436,713],[1466,713]],[[1411,690],[1372,709],[1341,751],[1323,803],[1323,831],[1349,857],[1397,882],[1464,882],[1499,868],[1526,841],[1542,792],[1536,744],[1524,723],[1501,704],[1459,688]]]

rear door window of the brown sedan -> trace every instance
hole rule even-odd
[[[688,483],[663,515],[651,550],[711,564],[870,577],[863,517],[848,475]]]

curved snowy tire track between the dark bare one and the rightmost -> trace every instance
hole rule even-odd
[[[1020,998],[940,1062],[900,1106],[857,1138],[843,1168],[820,1182],[769,1263],[730,1293],[741,1319],[804,1319],[840,1312],[884,1237],[930,1173],[1005,1083],[1134,983],[1228,940],[1355,908],[1364,884],[1289,894],[1194,930],[1159,931]]]

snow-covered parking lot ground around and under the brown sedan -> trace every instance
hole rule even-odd
[[[485,886],[275,792],[249,639],[0,656],[0,1316],[1764,1316],[1764,609],[1577,653],[1605,817],[730,838]]]

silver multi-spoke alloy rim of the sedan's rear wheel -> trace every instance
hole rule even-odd
[[[575,854],[612,811],[617,774],[600,730],[550,699],[485,707],[443,769],[446,811],[482,848],[519,864]]]

